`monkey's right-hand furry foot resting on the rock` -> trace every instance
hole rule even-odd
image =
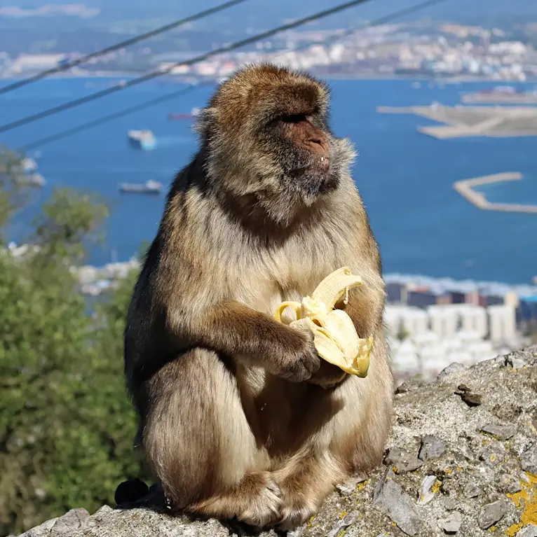
[[[278,527],[289,531],[315,515],[322,501],[344,478],[344,472],[326,449],[311,446],[285,461],[274,473],[283,495],[282,516]]]

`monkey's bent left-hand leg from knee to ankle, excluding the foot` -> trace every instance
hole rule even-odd
[[[144,451],[173,509],[240,482],[253,466],[254,438],[236,379],[218,356],[196,349],[152,379]]]

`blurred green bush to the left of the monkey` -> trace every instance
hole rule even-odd
[[[0,153],[0,533],[21,533],[74,507],[114,503],[144,477],[123,381],[123,326],[136,274],[92,303],[70,270],[102,238],[107,207],[55,190],[34,223],[39,246],[15,258],[5,229],[29,200],[18,155]],[[4,231],[4,233],[2,233]]]

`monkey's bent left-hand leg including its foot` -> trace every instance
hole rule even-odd
[[[264,469],[233,373],[196,349],[149,385],[144,448],[172,509],[263,526],[278,519],[279,489]]]

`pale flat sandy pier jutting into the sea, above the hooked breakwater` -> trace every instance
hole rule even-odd
[[[413,113],[445,125],[417,127],[437,139],[537,136],[537,107],[514,106],[377,106],[379,113]]]

